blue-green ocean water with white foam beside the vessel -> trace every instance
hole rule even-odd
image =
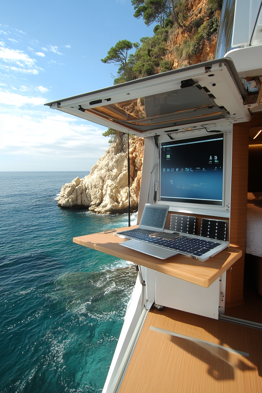
[[[1,393],[103,389],[136,270],[72,242],[128,223],[57,206],[86,174],[0,172]]]

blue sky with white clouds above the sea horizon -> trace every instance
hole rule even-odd
[[[113,84],[117,41],[153,35],[130,0],[1,1],[0,170],[89,171],[105,128],[44,107]]]

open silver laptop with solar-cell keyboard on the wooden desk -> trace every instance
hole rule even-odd
[[[179,225],[174,232],[171,230],[174,228],[171,222],[170,230],[164,230],[168,211],[169,206],[166,205],[146,204],[138,228],[117,232],[115,236],[131,239],[120,243],[121,246],[160,259],[180,253],[205,262],[229,245],[229,242],[211,238],[209,235],[203,237],[194,235],[191,231],[189,233],[189,224],[186,231],[182,231],[182,227],[179,231]],[[180,217],[186,219],[184,216],[176,216],[176,223]]]

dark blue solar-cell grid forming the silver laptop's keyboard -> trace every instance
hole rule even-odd
[[[158,239],[156,237],[149,236],[152,233],[156,233],[156,231],[135,228],[130,231],[118,232],[117,234],[129,237],[130,239],[142,240],[158,246],[167,247],[174,251],[192,254],[196,257],[204,255],[221,244],[182,235],[178,235],[174,239]]]

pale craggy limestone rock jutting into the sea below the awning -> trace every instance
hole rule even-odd
[[[130,206],[138,208],[144,139],[129,138]],[[63,185],[58,205],[89,208],[94,213],[123,213],[128,208],[127,135],[117,133],[90,174]]]

